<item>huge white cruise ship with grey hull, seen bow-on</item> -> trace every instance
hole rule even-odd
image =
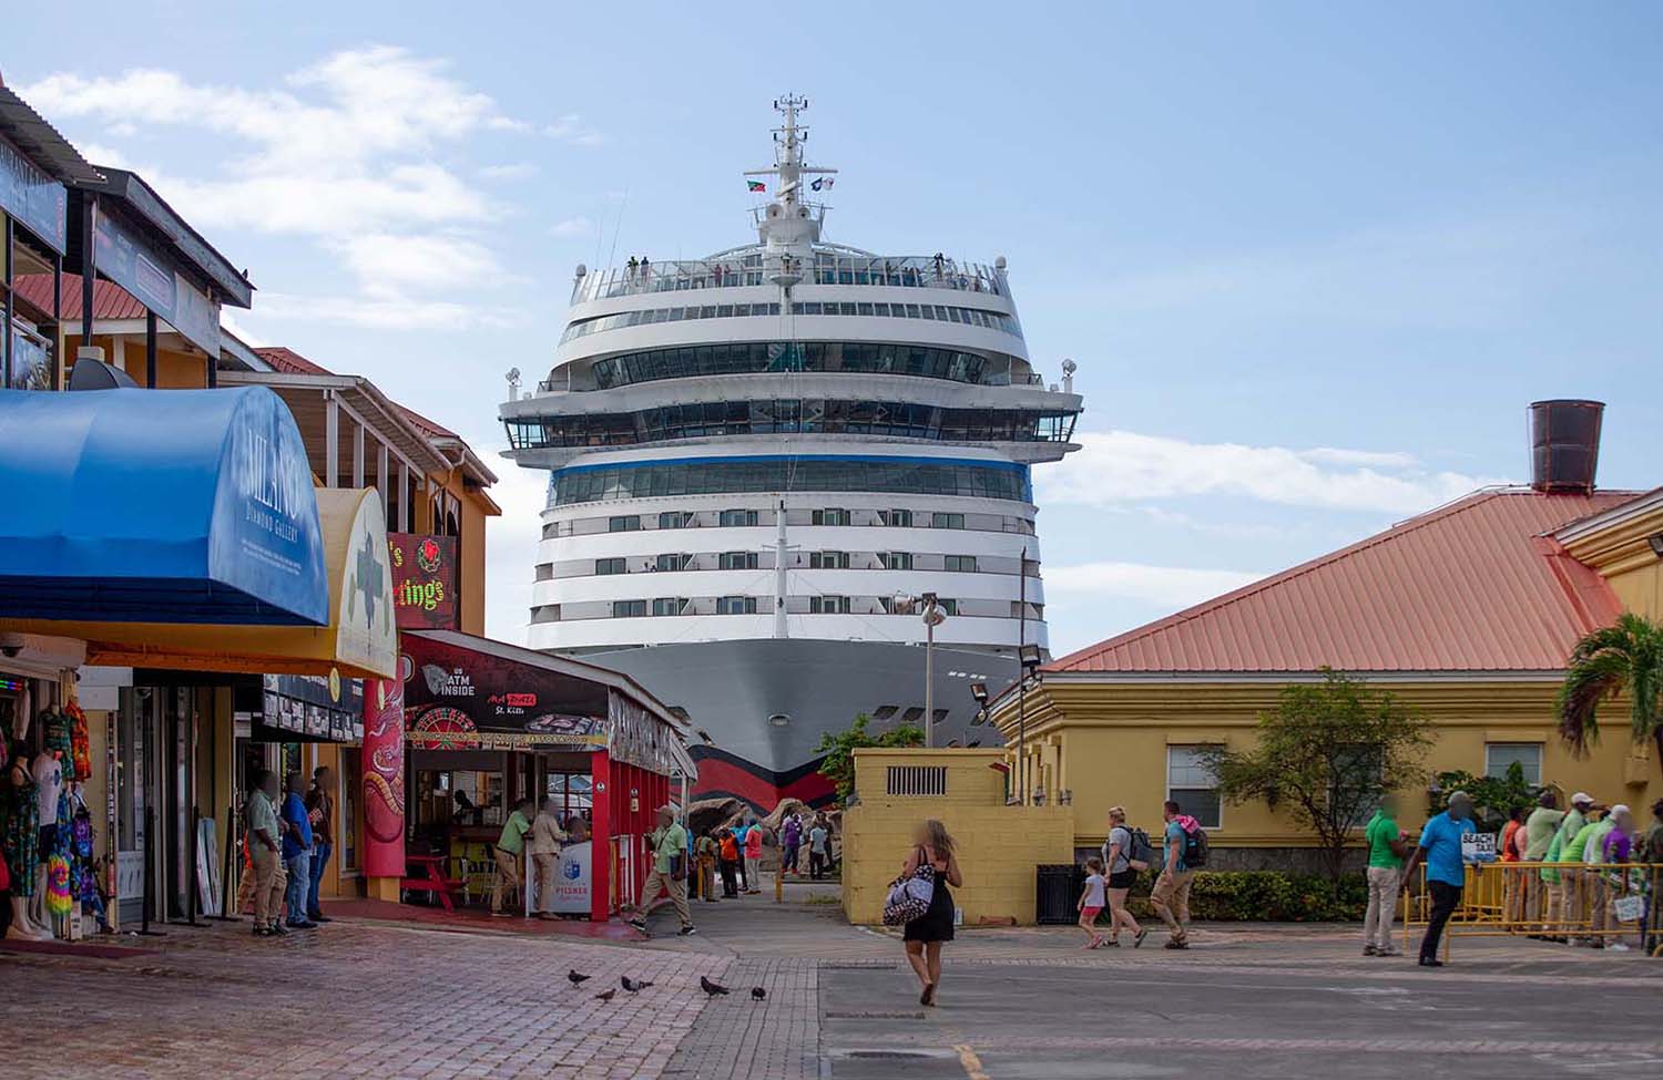
[[[1081,410],[1073,362],[1034,371],[1003,258],[825,239],[807,105],[775,101],[745,174],[753,243],[579,266],[552,371],[501,407],[506,455],[550,470],[529,645],[683,709],[695,794],[762,812],[830,801],[820,736],[861,713],[998,741],[971,685],[1046,648],[1029,469]]]

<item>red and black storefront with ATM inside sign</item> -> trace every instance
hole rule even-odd
[[[401,650],[407,852],[444,859],[472,901],[514,803],[554,798],[574,831],[555,911],[604,920],[637,896],[654,812],[695,776],[683,721],[575,660],[446,630],[406,631]]]

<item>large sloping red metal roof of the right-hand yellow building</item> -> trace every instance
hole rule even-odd
[[[1635,497],[1475,492],[1044,670],[1557,671],[1621,605],[1545,533]]]

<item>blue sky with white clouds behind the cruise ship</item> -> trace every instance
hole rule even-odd
[[[487,631],[522,640],[545,474],[497,459],[575,264],[753,238],[807,95],[827,238],[1009,259],[1081,450],[1036,469],[1056,655],[1488,484],[1525,407],[1608,402],[1663,484],[1663,5],[722,7],[88,0],[0,73],[258,286],[231,326],[461,432]]]

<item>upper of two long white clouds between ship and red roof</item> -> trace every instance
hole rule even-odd
[[[1118,505],[1234,495],[1285,507],[1419,513],[1495,477],[1430,470],[1405,454],[1199,444],[1134,432],[1084,432],[1078,454],[1041,470],[1044,503]]]

